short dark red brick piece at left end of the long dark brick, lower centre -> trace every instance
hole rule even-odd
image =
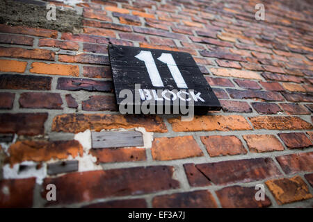
[[[195,164],[184,164],[184,169],[191,187],[205,187],[211,185],[211,182],[195,167]]]

